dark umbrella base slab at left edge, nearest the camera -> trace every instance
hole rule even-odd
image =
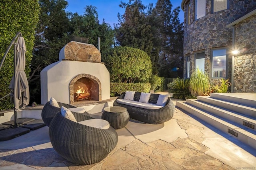
[[[0,131],[0,141],[8,141],[10,139],[14,139],[20,135],[24,135],[29,133],[30,129],[23,128],[23,127],[12,127],[9,129],[4,129]]]

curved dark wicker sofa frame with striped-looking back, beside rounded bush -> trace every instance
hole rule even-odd
[[[140,100],[140,92],[135,92],[134,94],[134,101],[138,102]],[[164,123],[170,119],[172,119],[174,111],[175,111],[175,107],[174,107],[174,103],[172,102],[172,100],[168,97],[165,106],[160,106],[158,107],[158,105],[156,105],[158,98],[159,98],[159,94],[150,94],[150,98],[149,98],[149,104],[152,105],[154,107],[154,105],[156,105],[157,109],[147,109],[147,107],[143,107],[143,105],[147,105],[144,103],[140,103],[140,105],[142,105],[142,107],[135,107],[135,106],[130,106],[128,104],[123,104],[123,103],[119,103],[119,99],[124,100],[124,96],[125,93],[122,94],[121,96],[119,96],[115,101],[113,106],[122,106],[122,107],[126,107],[129,114],[130,114],[130,118],[132,119],[136,119],[138,121],[142,121],[145,123],[150,123],[150,124],[161,124]],[[131,101],[134,102],[134,101]],[[126,101],[127,102],[127,101]],[[128,101],[129,103],[129,101]]]

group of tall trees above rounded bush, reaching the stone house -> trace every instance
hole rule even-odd
[[[117,42],[145,51],[152,62],[152,73],[163,77],[183,76],[183,23],[180,7],[172,10],[170,0],[145,6],[141,0],[121,2],[125,8],[115,25]],[[178,69],[177,69],[178,68]]]

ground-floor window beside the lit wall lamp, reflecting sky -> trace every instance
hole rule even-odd
[[[212,50],[212,78],[226,78],[226,49]]]

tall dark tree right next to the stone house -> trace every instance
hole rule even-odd
[[[158,0],[153,11],[160,38],[159,75],[183,77],[183,23],[178,19],[180,7],[172,11],[170,0]]]

